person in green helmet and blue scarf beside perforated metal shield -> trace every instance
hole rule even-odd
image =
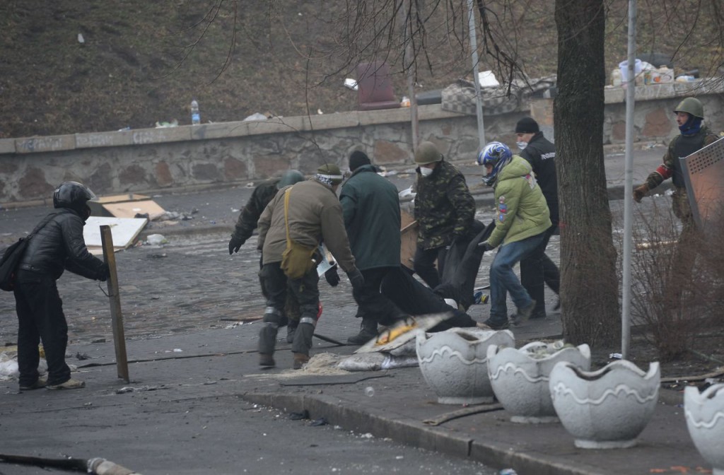
[[[691,274],[691,266],[694,259],[691,258],[691,250],[696,249],[698,232],[694,217],[689,206],[689,196],[686,194],[686,182],[684,182],[681,169],[680,157],[689,156],[699,149],[714,143],[718,140],[702,122],[704,120],[704,106],[699,99],[687,97],[681,101],[673,111],[676,114],[676,124],[681,134],[676,135],[669,143],[664,162],[652,172],[643,185],[633,190],[633,199],[641,203],[641,198],[661,185],[664,180],[671,178],[674,192],[671,196],[671,206],[675,216],[681,220],[682,229],[679,235],[678,245],[672,258],[672,267],[669,279],[670,288],[676,289],[678,282],[686,282]],[[688,254],[688,256],[687,256]],[[674,297],[678,292],[665,290],[665,295]],[[670,307],[678,306],[678,300],[670,302]]]

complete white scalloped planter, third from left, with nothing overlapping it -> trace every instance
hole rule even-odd
[[[658,362],[644,373],[626,360],[592,372],[561,361],[549,384],[555,412],[576,447],[608,449],[636,445],[656,408],[660,379]]]

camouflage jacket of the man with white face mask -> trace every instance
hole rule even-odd
[[[429,177],[421,176],[419,168],[417,173],[418,245],[438,248],[466,236],[475,219],[475,201],[460,170],[443,160]]]

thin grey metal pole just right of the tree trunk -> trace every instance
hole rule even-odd
[[[631,230],[633,227],[633,108],[636,105],[636,0],[628,0],[628,73],[626,75],[626,167],[623,185],[623,295],[621,356],[631,346]]]

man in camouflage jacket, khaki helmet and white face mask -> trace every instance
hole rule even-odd
[[[418,164],[415,219],[418,222],[414,270],[431,288],[440,283],[445,251],[455,240],[470,238],[475,201],[465,177],[431,142],[415,151]],[[437,259],[437,269],[435,269]]]

